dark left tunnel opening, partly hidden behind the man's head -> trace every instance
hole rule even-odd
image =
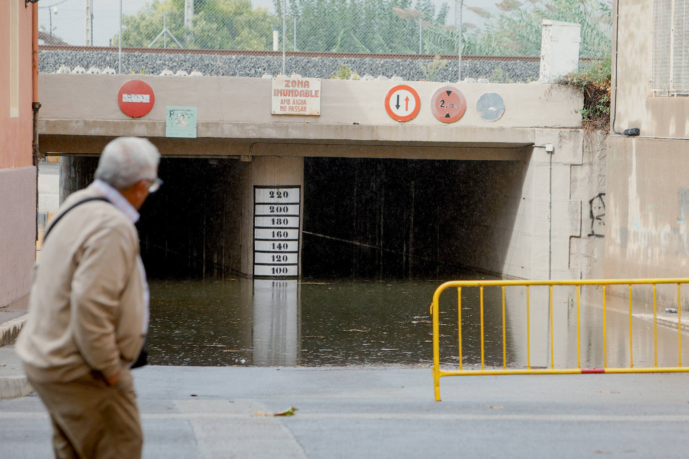
[[[98,158],[61,158],[62,202],[92,182]],[[161,158],[165,184],[143,204],[136,224],[151,279],[227,279],[240,265],[241,175],[228,158]]]

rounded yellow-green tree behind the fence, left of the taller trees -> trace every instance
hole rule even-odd
[[[125,15],[122,45],[150,45],[163,31],[165,14],[167,29],[184,47],[271,50],[272,28],[280,23],[265,8],[251,8],[250,0],[196,0],[190,30],[185,30],[183,11],[184,0],[154,0],[136,14]],[[111,43],[117,45],[118,40],[115,36]],[[169,35],[165,40],[168,47],[178,47]],[[163,36],[153,46],[163,47]]]

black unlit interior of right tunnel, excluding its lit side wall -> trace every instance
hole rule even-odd
[[[437,277],[448,235],[438,224],[462,195],[462,163],[307,158],[305,277]]]

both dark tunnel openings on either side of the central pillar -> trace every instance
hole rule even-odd
[[[97,158],[62,159],[63,195]],[[162,158],[165,184],[141,209],[152,279],[240,277],[250,162]],[[522,200],[526,161],[305,158],[302,277],[439,279],[499,273]],[[245,242],[246,243],[246,242]],[[246,249],[246,248],[245,248]]]

